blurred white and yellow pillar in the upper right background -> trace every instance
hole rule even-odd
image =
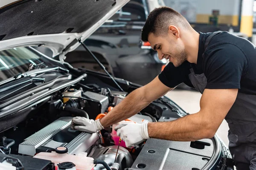
[[[254,0],[242,0],[240,31],[247,34],[251,41],[253,37],[253,2]]]

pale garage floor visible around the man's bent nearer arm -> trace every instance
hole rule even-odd
[[[166,94],[167,97],[172,99],[177,105],[183,108],[187,113],[197,113],[200,111],[200,99],[201,93],[197,91],[187,91],[175,89]],[[223,142],[228,146],[227,130],[229,127],[227,122],[224,120],[217,131],[217,135],[223,140]]]

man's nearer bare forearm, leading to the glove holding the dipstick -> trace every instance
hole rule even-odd
[[[195,113],[172,122],[148,123],[151,138],[172,141],[195,141],[211,138],[215,132],[200,113]]]

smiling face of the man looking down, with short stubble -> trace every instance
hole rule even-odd
[[[160,60],[169,59],[169,62],[172,62],[175,67],[180,66],[187,59],[184,45],[174,36],[167,34],[165,37],[156,37],[153,33],[150,33],[148,42],[157,51]]]

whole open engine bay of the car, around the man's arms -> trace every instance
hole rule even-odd
[[[30,84],[34,83],[34,87],[22,89],[23,78]],[[2,96],[5,100],[0,103],[0,165],[9,166],[8,170],[139,170],[159,167],[196,170],[220,159],[217,138],[195,142],[148,139],[128,148],[116,135],[114,127],[117,124],[92,134],[73,130],[70,127],[73,117],[102,119],[131,91],[139,88],[125,80],[116,80],[125,91],[119,91],[105,74],[86,70],[79,70],[76,74],[59,68],[40,74],[34,72],[29,81],[22,77],[18,87],[9,82],[14,84],[15,90],[23,91],[13,94],[13,89],[9,89],[12,95],[6,93]],[[4,84],[0,90],[1,87],[9,86]],[[1,108],[1,105],[5,107]],[[3,112],[5,116],[1,114]],[[186,115],[172,100],[163,96],[126,121],[169,122]],[[182,159],[178,159],[182,157],[191,161],[182,163]]]

